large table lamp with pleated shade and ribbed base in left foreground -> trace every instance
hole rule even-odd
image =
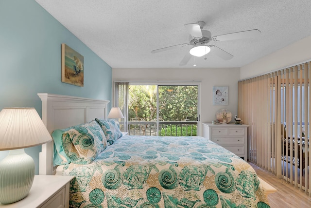
[[[0,151],[10,150],[0,161],[0,203],[25,198],[35,177],[34,159],[24,148],[52,140],[34,108],[4,108],[0,112]]]

